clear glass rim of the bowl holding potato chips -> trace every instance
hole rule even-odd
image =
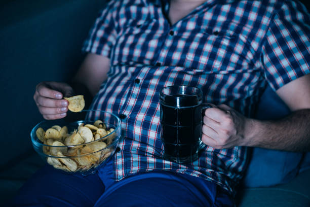
[[[112,114],[112,113],[110,113],[110,112],[107,112],[107,111],[102,111],[102,110],[94,110],[94,109],[89,109],[89,110],[82,110],[81,112],[103,112],[103,113],[106,113],[106,114],[109,114],[109,115],[111,115],[111,116],[113,116],[114,118],[116,118],[117,120],[118,120],[118,125],[117,125],[117,127],[115,127],[115,129],[111,132],[111,133],[109,133],[109,134],[107,134],[107,135],[105,135],[105,136],[103,136],[103,137],[101,137],[100,139],[98,139],[98,140],[94,140],[94,141],[92,141],[92,142],[88,142],[88,143],[83,143],[83,144],[79,144],[79,145],[68,145],[68,146],[52,146],[52,145],[45,145],[45,144],[43,144],[43,143],[40,143],[40,142],[37,142],[36,140],[34,140],[34,138],[32,137],[32,135],[31,134],[36,134],[36,132],[34,131],[34,129],[37,129],[38,128],[38,126],[40,125],[40,124],[42,124],[42,123],[45,123],[45,122],[48,122],[48,121],[53,121],[53,120],[43,120],[43,121],[41,121],[41,122],[39,122],[39,123],[37,123],[32,129],[31,129],[31,132],[30,132],[30,138],[31,138],[31,142],[32,142],[32,144],[34,144],[35,146],[39,146],[39,147],[43,147],[43,146],[45,146],[45,147],[57,147],[57,148],[73,148],[73,147],[78,147],[78,146],[82,146],[82,145],[88,145],[88,144],[91,144],[91,143],[95,143],[95,142],[99,142],[99,141],[101,141],[101,140],[103,140],[105,137],[107,137],[107,136],[109,136],[109,135],[111,135],[111,134],[113,134],[113,133],[115,133],[116,134],[116,132],[117,132],[117,130],[121,127],[121,119],[117,116],[117,115],[115,115],[115,114]],[[81,113],[81,112],[78,112],[78,113]],[[75,112],[76,113],[76,112]],[[120,139],[120,137],[118,137],[118,139],[117,140],[119,140]],[[115,142],[115,141],[114,141]],[[113,142],[113,143],[114,143]],[[113,144],[113,143],[111,143],[111,144]],[[111,145],[110,144],[110,145]],[[109,145],[109,146],[110,146]],[[103,148],[103,149],[106,149],[106,148],[108,148],[109,146],[107,146],[107,147],[105,147],[105,148]],[[103,149],[101,149],[101,150],[103,150]],[[100,151],[100,150],[98,150],[98,151]],[[97,152],[98,152],[97,151]],[[92,154],[92,153],[91,153]],[[55,156],[53,156],[53,157],[55,157]],[[67,156],[66,156],[67,157]]]

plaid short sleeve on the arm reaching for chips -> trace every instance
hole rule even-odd
[[[114,1],[110,1],[99,12],[95,24],[85,40],[82,52],[94,53],[110,58],[110,51],[116,39],[116,26],[113,15],[115,13]]]

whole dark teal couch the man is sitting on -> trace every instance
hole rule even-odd
[[[0,7],[0,205],[44,163],[30,142],[43,118],[32,99],[41,81],[67,81],[83,60],[83,40],[104,2],[15,0]],[[239,206],[310,206],[310,171],[287,184],[242,188]]]

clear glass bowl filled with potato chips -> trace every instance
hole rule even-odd
[[[115,153],[121,120],[99,110],[67,113],[45,120],[31,130],[34,150],[50,165],[68,173],[94,174]]]

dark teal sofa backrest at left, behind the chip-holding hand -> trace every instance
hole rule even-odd
[[[104,1],[15,0],[0,6],[0,169],[31,150],[30,130],[43,117],[33,93],[41,81],[67,81]]]

